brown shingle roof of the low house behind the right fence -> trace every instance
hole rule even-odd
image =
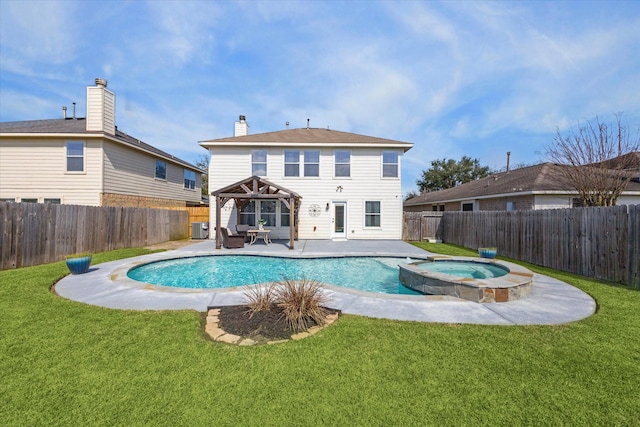
[[[454,202],[468,199],[490,198],[500,195],[525,195],[544,193],[576,193],[575,188],[562,174],[566,166],[540,163],[509,172],[497,173],[476,181],[441,191],[424,193],[404,202],[405,206]],[[640,183],[630,182],[626,191],[639,191]]]

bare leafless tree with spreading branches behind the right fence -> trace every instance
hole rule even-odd
[[[598,117],[570,128],[566,135],[557,130],[547,157],[564,165],[561,173],[578,192],[582,206],[613,206],[640,169],[640,132],[629,136],[629,127],[616,114],[613,124]]]

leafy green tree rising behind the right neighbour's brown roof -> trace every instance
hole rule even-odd
[[[431,169],[422,171],[422,179],[416,181],[421,193],[457,187],[465,182],[489,176],[488,166],[480,166],[478,159],[463,156],[459,162],[453,159],[433,160]]]

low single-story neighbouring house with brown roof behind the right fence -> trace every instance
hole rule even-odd
[[[578,192],[561,173],[565,166],[541,163],[497,173],[404,202],[405,212],[556,209],[579,205]],[[640,172],[618,198],[618,205],[640,204]]]

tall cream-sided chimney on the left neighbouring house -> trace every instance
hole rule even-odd
[[[116,134],[116,96],[105,79],[87,87],[87,131]]]

